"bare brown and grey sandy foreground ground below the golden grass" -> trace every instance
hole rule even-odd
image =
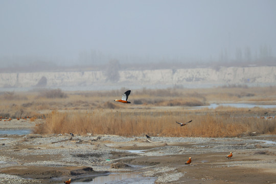
[[[31,128],[35,122],[0,125]],[[74,183],[85,175],[134,171],[156,178],[155,183],[276,183],[276,135],[151,137],[151,142],[146,137],[111,135],[0,137],[0,183],[63,183],[68,178]],[[233,157],[227,159],[230,151]],[[111,168],[116,163],[121,165]]]

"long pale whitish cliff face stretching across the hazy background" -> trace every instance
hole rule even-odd
[[[276,66],[179,68],[144,71],[119,71],[118,84],[185,85],[185,84],[276,84]],[[0,87],[34,87],[40,79],[45,87],[109,85],[102,71],[0,73]]]

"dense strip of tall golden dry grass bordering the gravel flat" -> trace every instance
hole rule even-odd
[[[193,120],[180,127],[175,121]],[[52,111],[35,133],[115,134],[122,136],[201,136],[234,137],[252,132],[276,133],[276,120],[260,118],[233,118],[218,113],[189,115],[182,111],[118,111],[93,110],[92,112]]]

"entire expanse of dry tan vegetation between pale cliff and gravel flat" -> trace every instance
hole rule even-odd
[[[262,119],[263,116],[274,117],[275,109],[223,106],[216,109],[191,109],[209,103],[275,104],[275,86],[144,88],[131,91],[131,104],[114,102],[125,90],[66,93],[60,89],[47,90],[51,94],[49,96],[41,95],[40,91],[1,93],[0,115],[13,119],[27,116],[45,118],[44,123],[35,128],[35,133],[41,134],[74,132],[124,136],[225,137],[276,133],[276,119]],[[175,123],[187,120],[193,122],[183,127]]]

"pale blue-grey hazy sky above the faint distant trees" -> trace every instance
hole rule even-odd
[[[0,56],[77,62],[79,54],[218,58],[276,56],[276,1],[0,0]]]

